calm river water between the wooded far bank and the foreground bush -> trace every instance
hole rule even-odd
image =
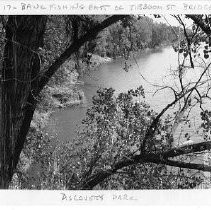
[[[177,53],[171,46],[145,51],[136,58],[131,58],[128,64],[131,65],[128,72],[123,69],[125,60],[117,59],[85,75],[82,79],[84,81],[82,89],[86,96],[86,103],[54,112],[47,131],[51,135],[56,135],[59,141],[71,141],[76,136],[81,120],[85,117],[92,96],[100,87],[112,87],[116,93],[119,93],[142,85],[146,93],[146,102],[157,112],[173,100],[173,92],[169,89],[154,95],[159,88],[156,85],[174,83],[170,75],[177,67]]]

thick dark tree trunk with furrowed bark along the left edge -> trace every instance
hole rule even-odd
[[[9,16],[1,83],[0,188],[6,189],[36,105],[45,16]]]

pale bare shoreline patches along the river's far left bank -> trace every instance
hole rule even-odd
[[[129,58],[139,56],[142,53],[162,49],[167,46],[171,46],[171,44],[164,43],[159,46],[155,46],[154,48],[147,47],[145,49],[133,52],[133,54],[131,54]],[[118,56],[114,59],[107,56],[101,57],[96,54],[91,55],[91,71],[95,71],[96,68],[98,68],[100,65],[111,63],[118,59],[123,59],[122,56]],[[44,128],[47,125],[52,113],[56,112],[57,110],[64,110],[86,103],[86,96],[84,94],[84,91],[80,87],[81,85],[83,86],[84,82],[79,80],[79,73],[71,72],[70,78],[67,78],[67,81],[64,82],[62,85],[55,85],[53,87],[48,86],[44,90],[44,97],[46,97],[45,100],[48,103],[47,108],[44,108],[44,110],[42,110],[41,105],[41,111],[35,111],[35,116],[32,120],[31,126]]]

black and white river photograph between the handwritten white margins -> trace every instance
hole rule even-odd
[[[211,188],[211,13],[143,7],[0,15],[1,190]]]

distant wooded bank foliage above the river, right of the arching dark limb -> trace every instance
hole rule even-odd
[[[178,31],[178,28],[155,23],[146,16],[132,16],[101,32],[95,52],[128,59],[130,53],[176,41],[173,30]]]

